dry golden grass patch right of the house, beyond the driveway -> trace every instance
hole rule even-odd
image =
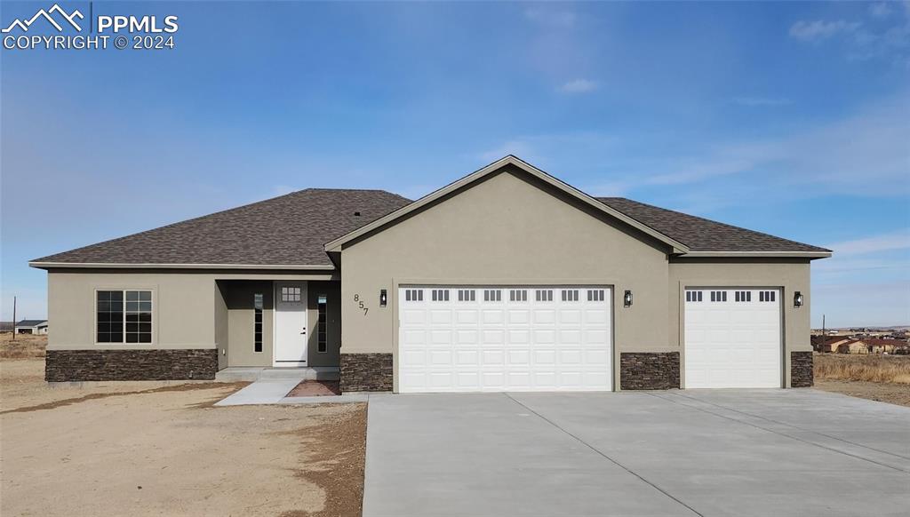
[[[815,379],[910,384],[910,356],[815,354]]]

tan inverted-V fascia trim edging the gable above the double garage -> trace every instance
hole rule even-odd
[[[411,212],[413,212],[415,210],[419,210],[420,208],[429,205],[430,203],[432,203],[433,201],[435,201],[439,198],[443,198],[444,196],[447,196],[450,193],[459,190],[460,188],[465,188],[465,187],[469,186],[471,183],[480,181],[480,179],[483,179],[483,177],[489,176],[490,174],[497,173],[497,172],[501,171],[501,169],[503,167],[508,167],[508,166],[517,167],[517,168],[521,169],[522,171],[530,174],[531,176],[541,179],[543,182],[551,185],[552,187],[555,187],[555,188],[561,190],[562,192],[565,192],[569,196],[580,200],[582,203],[585,203],[585,204],[591,206],[591,208],[600,210],[601,212],[611,216],[612,218],[619,219],[623,223],[631,226],[632,228],[636,228],[636,229],[642,231],[643,233],[651,236],[652,238],[656,238],[657,240],[663,242],[664,244],[666,244],[670,248],[672,248],[674,253],[685,253],[685,252],[689,251],[689,248],[685,244],[682,244],[682,242],[676,240],[675,238],[672,238],[672,237],[662,233],[659,230],[656,230],[645,224],[642,224],[642,222],[637,221],[634,218],[630,218],[629,216],[627,216],[626,214],[622,213],[621,211],[619,211],[615,208],[612,208],[608,205],[604,205],[602,202],[598,201],[597,199],[591,198],[591,196],[588,196],[584,192],[581,192],[581,190],[571,187],[571,185],[564,183],[555,177],[550,176],[549,174],[543,172],[541,169],[534,167],[531,164],[522,160],[521,158],[514,157],[512,155],[509,155],[507,157],[502,157],[501,159],[496,160],[495,162],[491,163],[487,167],[483,167],[480,170],[472,172],[468,176],[462,177],[458,181],[450,183],[449,185],[447,185],[443,188],[440,188],[439,190],[435,190],[435,191],[431,192],[430,194],[424,196],[423,198],[420,198],[417,201],[414,201],[410,205],[399,208],[398,210],[390,213],[389,215],[387,215],[383,218],[376,219],[375,221],[369,223],[368,225],[364,225],[360,228],[357,228],[357,229],[351,231],[350,233],[348,233],[342,237],[336,238],[335,240],[326,244],[326,251],[339,251],[345,243],[350,242],[351,240],[353,240],[355,238],[359,238],[360,236],[365,235],[365,234],[369,233],[370,231],[373,231],[375,229],[382,228],[386,225],[389,225],[390,223],[392,223],[393,221],[395,221],[398,218],[407,216]]]

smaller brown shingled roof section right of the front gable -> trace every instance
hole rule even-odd
[[[734,227],[627,198],[597,198],[638,222],[682,242],[691,251],[820,251],[830,249]]]

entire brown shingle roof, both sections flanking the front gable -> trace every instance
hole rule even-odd
[[[828,251],[632,199],[598,199],[692,251]],[[409,203],[384,190],[308,188],[34,261],[330,266],[323,245]]]

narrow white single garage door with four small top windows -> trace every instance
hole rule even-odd
[[[781,293],[686,289],[685,387],[780,388]]]

